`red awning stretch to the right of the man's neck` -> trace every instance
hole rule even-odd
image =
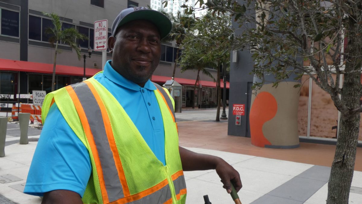
[[[156,83],[164,83],[167,80],[171,80],[171,77],[152,75],[152,78],[151,78],[151,81],[156,82]],[[177,81],[181,85],[189,85],[189,86],[195,85],[194,79],[175,77],[174,80]],[[221,88],[224,88],[224,81],[222,79],[220,80],[220,84],[221,84]],[[197,85],[199,85],[199,84],[197,83]],[[205,87],[216,87],[216,82],[201,80],[201,85],[205,86]],[[226,88],[227,89],[230,88],[230,83],[228,81],[226,82]]]

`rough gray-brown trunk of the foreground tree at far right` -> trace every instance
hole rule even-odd
[[[360,12],[358,12],[360,13]],[[346,61],[342,103],[350,110],[359,107],[361,98],[361,55],[362,39],[358,37],[359,32],[355,21],[350,17],[348,24],[348,46],[346,53],[349,54]],[[357,72],[358,71],[358,72]],[[360,113],[341,114],[340,127],[338,130],[336,153],[332,163],[331,175],[328,182],[327,204],[348,204],[349,191],[351,188],[356,149],[358,143]]]

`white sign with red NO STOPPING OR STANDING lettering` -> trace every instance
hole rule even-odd
[[[94,51],[107,50],[108,20],[94,22]]]

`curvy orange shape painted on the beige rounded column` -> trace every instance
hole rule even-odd
[[[263,125],[274,118],[277,110],[277,101],[272,94],[260,92],[256,95],[249,115],[251,144],[260,147],[271,145],[270,141],[264,137]]]

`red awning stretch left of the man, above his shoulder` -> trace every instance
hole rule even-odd
[[[36,72],[36,73],[53,73],[53,64],[0,59],[0,70],[20,71],[20,72]],[[102,71],[101,69],[85,68],[85,75],[90,77]],[[73,75],[83,76],[83,67],[56,65],[55,73],[57,75]]]

